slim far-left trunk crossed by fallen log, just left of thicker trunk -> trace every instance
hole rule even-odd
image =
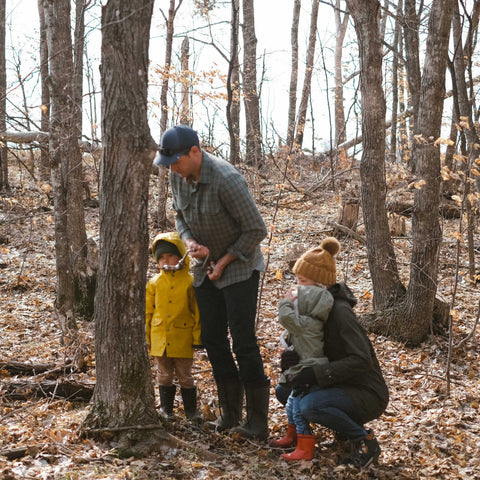
[[[40,84],[42,89],[42,107],[40,113],[40,128],[42,132],[50,131],[50,90],[48,88],[48,44],[45,27],[44,0],[38,0],[38,17],[40,20]],[[40,147],[40,179],[50,182],[50,158],[48,149]]]

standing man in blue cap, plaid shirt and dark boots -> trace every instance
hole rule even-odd
[[[259,272],[265,268],[260,250],[265,224],[242,175],[228,162],[204,152],[192,128],[176,125],[166,130],[154,164],[170,167],[176,228],[190,256],[197,259],[193,285],[202,343],[212,364],[221,411],[209,426],[264,440],[270,379],[263,370],[255,317]],[[239,426],[243,390],[247,418]]]

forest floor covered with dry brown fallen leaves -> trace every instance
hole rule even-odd
[[[329,222],[337,220],[342,197],[355,189],[354,181],[344,182],[336,186],[335,193],[327,188],[320,172],[308,173],[308,169],[300,168],[291,172],[276,208],[280,189],[272,180],[274,170],[272,166],[269,178],[261,180],[256,189],[262,193],[257,203],[272,232],[270,240],[263,244],[269,261],[258,324],[265,368],[272,378],[272,437],[283,433],[286,423],[274,386],[279,377],[278,337],[282,330],[276,318],[277,305],[293,282],[289,256],[295,249],[319,244],[332,233]],[[420,347],[407,348],[369,334],[391,401],[385,414],[370,424],[382,448],[379,463],[361,471],[337,466],[342,446],[322,427],[315,426],[318,442],[314,460],[287,463],[279,458],[281,452],[266,442],[241,441],[190,425],[184,420],[180,398],[175,420],[166,428],[188,446],[165,447],[147,458],[121,459],[115,454],[115,444],[80,438],[79,427],[88,402],[54,394],[35,396],[28,391],[23,398],[9,396],[8,385],[12,382],[28,378],[38,383],[46,375],[25,377],[2,365],[24,362],[61,366],[66,360],[54,315],[53,209],[45,191],[14,167],[11,184],[11,194],[0,197],[0,451],[24,451],[18,458],[0,456],[0,479],[480,479],[480,352],[475,335],[453,349],[447,368],[447,336],[432,335]],[[406,192],[406,184],[401,171],[389,176],[392,191]],[[152,179],[152,192],[154,185]],[[151,193],[152,218],[154,205]],[[97,239],[98,208],[87,207],[86,216],[88,234]],[[394,239],[405,284],[411,249],[409,223],[407,218],[406,236]],[[150,225],[153,238],[153,221]],[[458,220],[443,220],[442,228],[438,296],[451,303]],[[358,233],[363,233],[362,225]],[[478,229],[475,236],[478,246]],[[338,278],[346,281],[358,298],[357,313],[366,313],[372,308],[372,286],[365,246],[355,239],[339,239],[342,250],[337,256]],[[463,246],[453,305],[453,345],[472,332],[477,318],[478,287],[466,280],[466,268]],[[151,262],[149,275],[154,272]],[[85,370],[68,378],[92,385],[94,325],[84,322],[79,327],[91,355]],[[446,381],[447,369],[450,383]],[[195,377],[202,414],[212,418],[216,392],[203,352],[197,353]]]

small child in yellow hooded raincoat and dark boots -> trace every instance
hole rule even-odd
[[[201,347],[200,316],[186,247],[176,232],[160,233],[153,240],[152,254],[160,273],[147,284],[146,333],[148,352],[158,367],[160,413],[173,415],[176,376],[185,415],[198,421],[192,367],[193,349]]]

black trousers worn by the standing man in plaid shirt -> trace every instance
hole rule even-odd
[[[216,288],[208,277],[195,287],[202,343],[217,380],[239,377],[243,382],[264,382],[263,362],[255,335],[258,281],[259,273],[254,271],[248,280],[222,289]]]

